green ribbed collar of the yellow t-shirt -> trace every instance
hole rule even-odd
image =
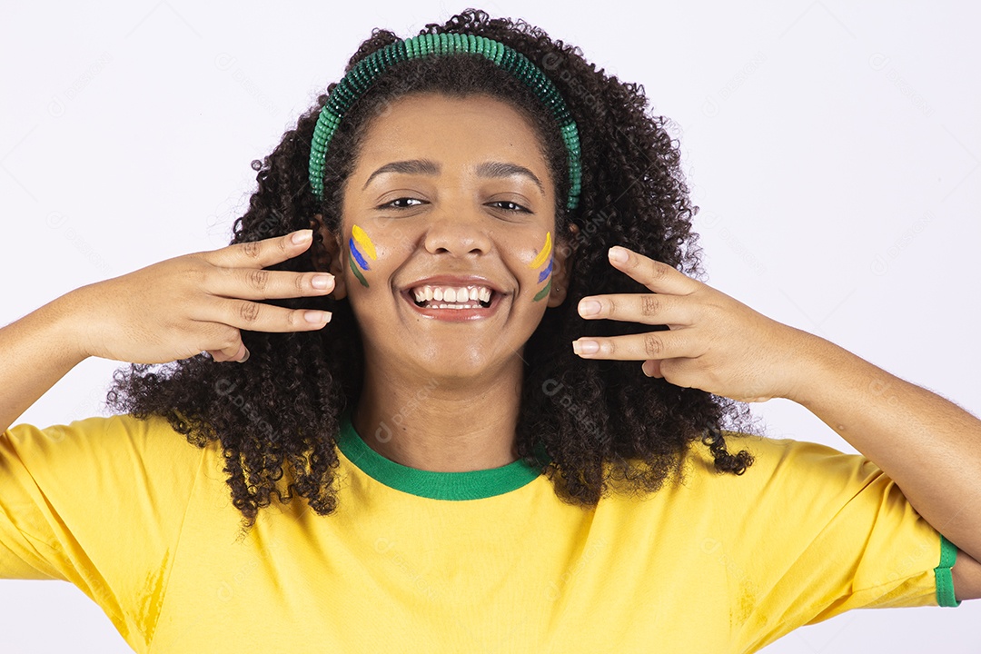
[[[350,411],[340,417],[337,447],[366,475],[402,492],[437,500],[477,500],[517,490],[542,474],[522,459],[501,468],[467,473],[436,473],[395,463],[373,450],[351,425]],[[539,443],[542,461],[550,461]],[[544,466],[542,466],[543,468]]]

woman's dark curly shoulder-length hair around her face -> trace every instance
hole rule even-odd
[[[586,295],[647,292],[609,266],[610,246],[623,244],[689,275],[701,274],[697,234],[691,225],[697,207],[691,205],[679,150],[665,128],[668,119],[646,115],[643,86],[597,71],[579,48],[552,40],[524,21],[490,19],[485,12],[468,9],[444,25],[426,25],[420,31],[454,32],[503,42],[555,83],[577,123],[582,145],[583,191],[575,210],[565,207],[566,154],[548,111],[521,82],[483,57],[456,54],[399,63],[357,100],[328,151],[325,188],[334,190],[318,200],[309,186],[307,166],[319,112],[336,87],[332,83],[264,159],[256,176],[258,189],[233,226],[232,243],[317,227],[321,220],[336,233],[340,189],[356,159],[359,139],[393,100],[437,92],[452,97],[486,94],[508,102],[541,136],[555,183],[556,233],[568,233],[570,222],[578,226],[570,243],[574,256],[566,301],[545,312],[525,347],[515,434],[519,456],[542,467],[562,501],[583,507],[594,507],[615,480],[627,480],[627,488],[635,493],[656,491],[669,475],[680,472],[683,455],[697,439],[709,446],[717,471],[742,474],[752,458],[746,450],[729,453],[722,429],[747,430],[746,405],[645,377],[639,362],[584,360],[568,345],[587,335],[584,329],[593,335],[650,330],[616,321],[587,324],[576,313]],[[394,33],[375,29],[346,70],[396,40]],[[320,234],[316,229],[314,233],[311,248],[272,269],[314,270],[315,253],[324,252]],[[271,303],[323,309],[334,317],[319,331],[242,331],[251,352],[245,365],[216,363],[204,355],[161,367],[133,364],[115,373],[108,395],[111,407],[139,419],[165,417],[198,447],[221,442],[243,532],[254,525],[259,509],[269,506],[274,494],[282,502],[298,493],[319,515],[336,510],[339,421],[343,411],[357,404],[362,385],[361,336],[346,301],[321,297]],[[536,458],[539,444],[550,462]],[[279,484],[284,464],[288,483]]]

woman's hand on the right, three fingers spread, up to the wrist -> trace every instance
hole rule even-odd
[[[623,262],[614,260],[625,253]],[[573,341],[585,359],[644,361],[648,377],[664,377],[744,402],[794,399],[817,336],[759,314],[697,279],[623,247],[610,248],[610,264],[651,293],[584,297],[586,320],[666,325],[667,330]],[[593,342],[594,353],[587,343]]]

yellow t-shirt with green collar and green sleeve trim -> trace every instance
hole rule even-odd
[[[0,438],[0,578],[65,579],[137,652],[751,652],[859,607],[955,605],[955,548],[867,459],[731,436],[756,457],[595,510],[521,461],[432,473],[345,420],[339,506],[238,538],[224,459],[160,418]],[[943,550],[943,551],[942,551]],[[942,559],[943,554],[943,559]]]

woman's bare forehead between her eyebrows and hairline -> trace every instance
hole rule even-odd
[[[480,163],[514,161],[547,174],[535,127],[513,106],[489,95],[418,93],[399,98],[371,121],[358,167],[427,157]]]

